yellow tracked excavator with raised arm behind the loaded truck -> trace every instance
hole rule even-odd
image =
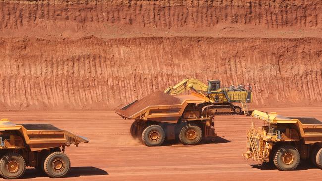
[[[198,79],[184,79],[175,86],[170,86],[164,93],[178,95],[186,91],[194,91],[209,98],[210,103],[205,107],[210,114],[241,114],[249,115],[248,103],[252,101],[252,88],[246,90],[244,86],[234,85],[221,88],[220,80],[208,80],[208,85]],[[241,106],[236,105],[240,103]]]

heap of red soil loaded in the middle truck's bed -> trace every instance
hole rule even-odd
[[[153,105],[172,105],[180,104],[181,101],[171,95],[168,95],[162,91],[156,91],[150,95],[143,97],[141,100],[131,104],[131,106],[124,109],[117,109],[116,112],[130,117],[134,113]]]

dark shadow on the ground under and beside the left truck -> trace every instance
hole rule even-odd
[[[71,167],[70,172],[64,178],[72,178],[79,176],[99,176],[99,175],[108,175],[105,170],[96,168],[96,167]],[[34,168],[26,169],[25,174],[21,179],[32,179],[37,177],[48,177],[45,173],[40,172]]]

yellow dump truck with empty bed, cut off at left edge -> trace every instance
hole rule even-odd
[[[78,146],[81,142],[88,140],[51,124],[19,125],[1,119],[0,175],[17,179],[29,166],[52,178],[63,177],[70,170],[70,160],[64,153],[66,146]]]

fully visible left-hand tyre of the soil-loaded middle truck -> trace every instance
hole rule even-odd
[[[146,146],[160,146],[165,139],[165,132],[159,125],[151,125],[142,132],[142,142]]]

